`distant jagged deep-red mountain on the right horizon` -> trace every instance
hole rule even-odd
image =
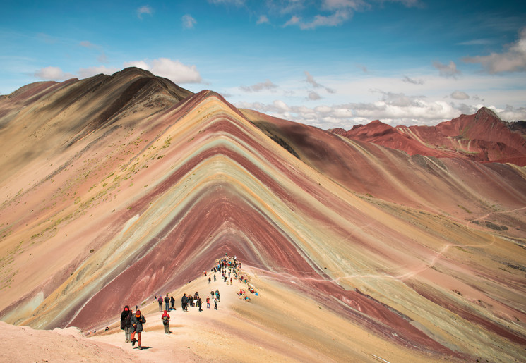
[[[373,121],[351,130],[330,130],[352,140],[373,142],[392,149],[438,158],[462,158],[526,165],[526,138],[520,123],[506,123],[482,107],[436,126],[390,125]]]

